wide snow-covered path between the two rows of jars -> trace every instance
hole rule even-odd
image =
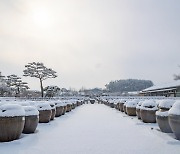
[[[153,128],[153,129],[151,129]],[[35,134],[0,143],[0,154],[179,154],[180,141],[105,105],[86,104]]]

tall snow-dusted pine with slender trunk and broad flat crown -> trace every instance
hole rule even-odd
[[[56,78],[56,72],[51,68],[47,68],[46,66],[44,66],[43,63],[39,62],[28,63],[27,65],[25,65],[25,67],[26,69],[23,71],[23,76],[30,76],[39,79],[41,87],[41,96],[43,97],[43,81],[48,78]]]

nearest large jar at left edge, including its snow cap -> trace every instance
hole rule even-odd
[[[0,106],[0,142],[16,140],[20,137],[25,123],[25,111],[17,104]]]

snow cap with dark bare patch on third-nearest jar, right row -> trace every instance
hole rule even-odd
[[[155,102],[155,100],[145,100],[143,101],[140,109],[143,109],[143,110],[158,110],[158,107],[157,107],[157,103]]]

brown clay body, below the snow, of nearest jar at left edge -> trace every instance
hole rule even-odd
[[[0,117],[0,142],[19,139],[25,123],[24,116]]]

